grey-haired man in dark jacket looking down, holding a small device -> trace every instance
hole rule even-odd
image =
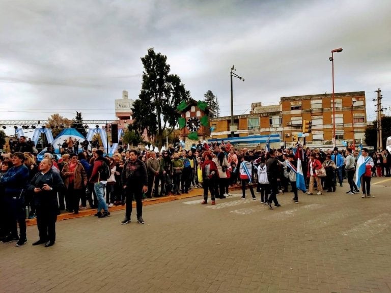
[[[52,162],[43,159],[38,172],[30,182],[29,191],[34,192],[34,202],[37,210],[37,227],[39,240],[33,245],[44,244],[50,247],[55,243],[55,222],[59,210],[57,192],[65,188],[58,172],[53,172]]]

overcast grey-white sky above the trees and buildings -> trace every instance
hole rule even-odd
[[[0,0],[0,120],[115,119],[122,91],[136,99],[140,58],[167,56],[195,100],[211,90],[221,115],[280,97],[375,90],[391,107],[391,1]],[[389,110],[385,113],[389,114]]]

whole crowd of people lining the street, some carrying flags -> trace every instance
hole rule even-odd
[[[33,245],[49,247],[55,243],[57,216],[87,210],[87,202],[97,209],[99,218],[109,216],[109,208],[126,204],[121,224],[127,224],[135,201],[137,222],[144,224],[143,200],[180,195],[194,188],[203,189],[202,204],[208,203],[210,195],[214,205],[216,198],[231,196],[230,188],[241,186],[241,198],[246,198],[247,190],[254,200],[259,193],[261,203],[269,209],[273,209],[272,203],[281,207],[278,193],[293,192],[292,201],[298,203],[298,188],[308,195],[322,195],[324,190],[335,192],[345,179],[349,184],[346,193],[359,192],[354,181],[358,152],[351,148],[323,151],[297,145],[285,150],[239,150],[229,141],[200,141],[190,150],[172,145],[161,153],[121,148],[113,156],[103,157],[100,149],[89,152],[83,148],[75,153],[74,145],[68,145],[58,161],[46,153],[37,162],[25,144],[25,137],[20,137],[19,149],[1,160],[0,200],[6,213],[0,216],[0,237],[4,243],[17,242],[16,246],[27,242],[26,217],[37,218],[39,240]],[[372,158],[367,149],[360,152],[366,165],[360,178],[362,197],[373,197],[371,177],[390,175],[390,154],[384,151]],[[304,175],[304,188],[299,186],[300,174]]]

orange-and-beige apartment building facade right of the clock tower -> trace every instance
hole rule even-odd
[[[336,144],[343,141],[349,144],[365,138],[367,114],[365,92],[335,93],[335,131]],[[331,145],[333,137],[332,95],[305,95],[282,97],[278,105],[262,106],[253,103],[249,114],[235,115],[234,124],[238,126],[235,137],[279,134],[281,142],[287,146],[301,140],[303,121],[312,122],[306,137],[307,145]],[[230,138],[231,117],[211,119],[212,138]]]

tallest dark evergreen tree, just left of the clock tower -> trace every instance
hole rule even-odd
[[[167,57],[155,53],[153,48],[141,58],[144,66],[143,83],[138,100],[133,103],[133,129],[143,133],[147,129],[149,139],[155,138],[162,145],[165,128],[174,127],[180,114],[177,106],[190,99],[190,92],[176,74],[170,74]],[[157,125],[156,125],[157,124]]]

